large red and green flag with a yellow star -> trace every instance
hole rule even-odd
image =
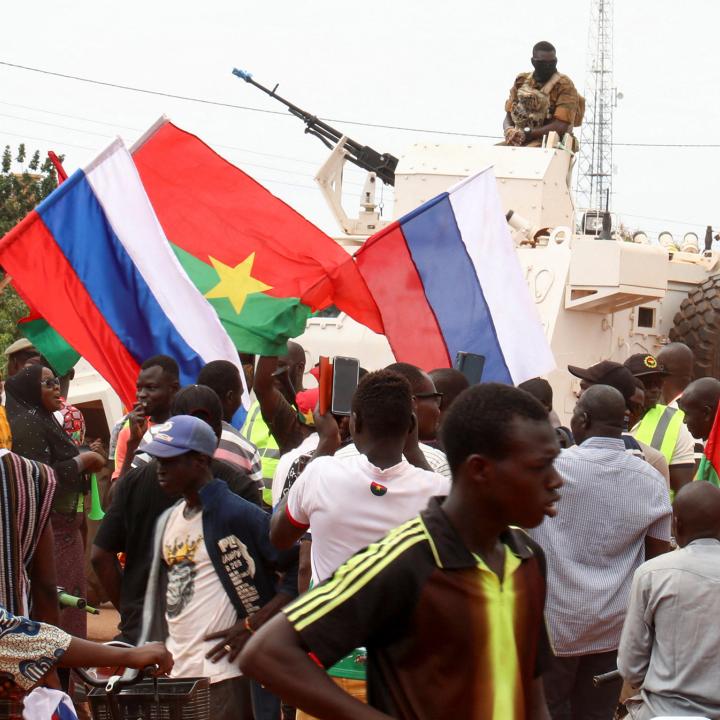
[[[347,252],[199,138],[164,120],[133,159],[180,264],[238,350],[282,353],[330,305],[382,332]]]

